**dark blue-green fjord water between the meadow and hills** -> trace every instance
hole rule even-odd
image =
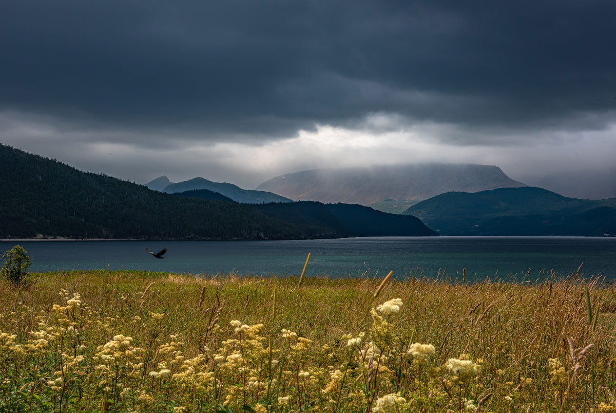
[[[17,242],[1,242],[8,250]],[[616,279],[615,237],[367,237],[290,241],[26,241],[30,271],[131,269],[186,274],[284,276],[299,274],[311,253],[308,276],[402,278],[444,271],[468,280],[514,276],[534,281],[551,271],[567,276],[583,263],[585,276]],[[168,248],[164,260],[145,251]],[[527,276],[529,274],[529,276]]]

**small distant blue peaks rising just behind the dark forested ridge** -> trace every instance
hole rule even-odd
[[[291,202],[289,198],[281,197],[271,192],[241,189],[237,185],[228,184],[226,182],[212,182],[205,178],[193,178],[188,181],[174,183],[163,175],[148,182],[145,186],[160,192],[167,192],[168,194],[185,192],[187,190],[207,189],[218,192],[240,203]]]

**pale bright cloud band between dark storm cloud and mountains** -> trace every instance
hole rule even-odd
[[[357,128],[317,125],[260,142],[202,141],[182,131],[96,130],[17,112],[0,113],[0,133],[5,144],[128,181],[145,183],[163,174],[173,182],[201,176],[248,189],[301,170],[428,162],[496,165],[511,178],[533,184],[559,171],[601,171],[613,165],[616,153],[616,124],[533,136],[500,132],[498,145],[488,144],[490,133],[484,131],[485,137],[475,139],[481,144],[461,145],[451,137],[468,130],[410,123],[387,113],[369,115]]]

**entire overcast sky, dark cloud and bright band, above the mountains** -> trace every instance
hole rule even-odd
[[[605,176],[615,22],[612,0],[4,1],[0,142],[139,183],[432,161]]]

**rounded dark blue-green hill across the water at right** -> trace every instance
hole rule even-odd
[[[405,214],[440,235],[616,235],[616,198],[567,198],[537,187],[448,192]]]

